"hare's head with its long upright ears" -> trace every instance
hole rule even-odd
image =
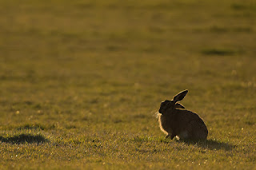
[[[161,114],[165,114],[167,110],[174,110],[174,109],[178,109],[178,108],[185,109],[185,107],[183,105],[177,103],[177,101],[182,101],[182,99],[186,96],[186,94],[188,92],[189,91],[186,89],[186,90],[178,93],[176,96],[174,96],[173,100],[162,101],[158,112]]]

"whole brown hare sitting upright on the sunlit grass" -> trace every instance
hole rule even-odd
[[[180,140],[206,140],[208,130],[198,114],[185,110],[184,106],[177,103],[182,101],[188,90],[184,90],[174,96],[171,101],[163,101],[158,111],[158,121],[166,138]]]

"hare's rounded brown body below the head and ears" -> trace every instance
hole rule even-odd
[[[171,139],[174,136],[182,140],[206,140],[208,130],[205,123],[196,113],[188,110],[174,109],[165,115],[160,114],[158,121],[160,128]]]

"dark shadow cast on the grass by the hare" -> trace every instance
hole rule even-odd
[[[218,140],[201,140],[201,141],[194,141],[194,140],[179,140],[179,142],[184,142],[188,145],[195,144],[200,148],[208,148],[210,150],[226,150],[230,151],[236,146],[234,144],[228,144],[226,142],[218,141]]]

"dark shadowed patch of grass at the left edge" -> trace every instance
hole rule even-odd
[[[10,137],[0,136],[0,141],[10,144],[39,144],[47,142],[48,140],[42,135],[20,134]]]

